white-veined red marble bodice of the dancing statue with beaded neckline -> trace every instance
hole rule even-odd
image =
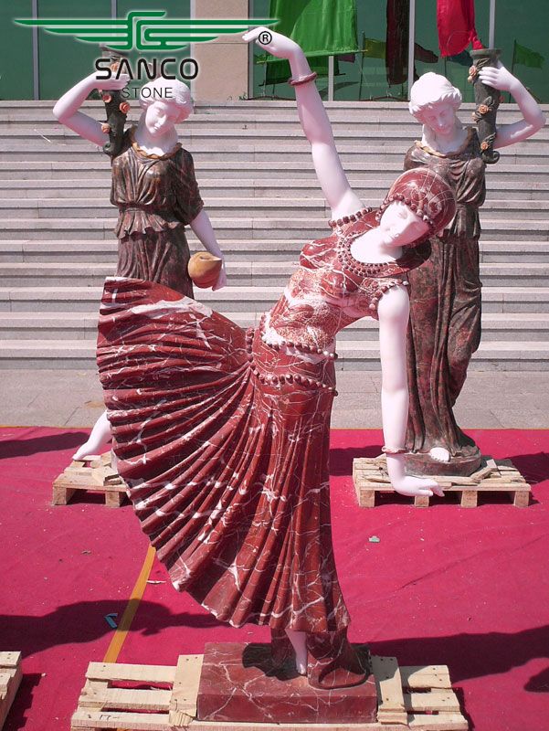
[[[332,236],[314,240],[301,250],[298,269],[265,318],[266,342],[306,345],[322,353],[346,325],[365,315],[376,318],[377,303],[385,291],[402,283],[406,271],[428,258],[426,241],[406,249],[395,261],[358,261],[351,245],[377,225],[375,211],[348,218],[334,228]]]

